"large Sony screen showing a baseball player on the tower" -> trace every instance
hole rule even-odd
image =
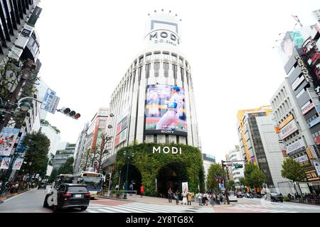
[[[187,135],[186,103],[182,87],[148,85],[145,134]]]

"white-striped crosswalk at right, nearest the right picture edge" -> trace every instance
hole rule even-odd
[[[262,213],[302,213],[304,209],[319,210],[320,207],[301,206],[299,204],[236,204],[228,209],[262,212]],[[299,209],[299,211],[292,211],[292,209]]]

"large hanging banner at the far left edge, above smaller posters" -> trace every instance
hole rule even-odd
[[[3,128],[0,133],[0,155],[9,156],[12,148],[14,148],[14,143],[16,143],[16,138],[20,128]]]

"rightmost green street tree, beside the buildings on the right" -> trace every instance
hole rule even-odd
[[[281,175],[293,182],[303,181],[306,178],[306,174],[300,164],[291,158],[283,161]]]

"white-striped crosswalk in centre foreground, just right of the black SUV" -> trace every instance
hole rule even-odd
[[[211,207],[161,205],[134,202],[117,206],[90,204],[87,213],[213,213]]]

